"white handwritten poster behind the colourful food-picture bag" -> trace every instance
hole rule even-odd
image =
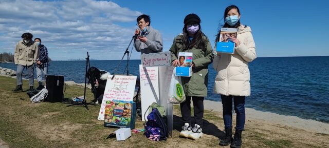
[[[112,75],[107,77],[103,101],[99,110],[98,120],[104,120],[106,101],[133,101],[137,76]]]

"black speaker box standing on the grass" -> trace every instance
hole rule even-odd
[[[47,75],[46,89],[48,90],[48,96],[46,101],[48,102],[61,102],[63,100],[63,87],[64,76],[61,75]]]

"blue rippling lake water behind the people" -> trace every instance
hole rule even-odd
[[[114,73],[119,61],[91,60],[90,66]],[[140,60],[131,60],[129,73],[139,75],[139,64]],[[123,61],[117,74],[124,73],[125,65]],[[0,67],[16,70],[14,64]],[[48,73],[84,83],[85,67],[85,61],[51,61]],[[249,69],[251,96],[246,97],[247,108],[329,123],[329,56],[257,58]],[[206,99],[220,101],[220,95],[213,94],[215,76],[210,65]]]

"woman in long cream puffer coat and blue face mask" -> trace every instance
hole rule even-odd
[[[254,60],[257,55],[251,28],[240,23],[239,8],[234,5],[228,6],[224,12],[224,18],[225,24],[222,27],[237,28],[237,36],[229,38],[235,43],[234,54],[217,53],[214,50],[213,67],[217,72],[214,93],[221,94],[225,124],[225,137],[219,144],[241,147],[241,134],[246,119],[245,96],[250,96],[248,62]],[[220,32],[217,34],[216,42],[219,40]],[[232,99],[236,113],[234,138],[232,137]]]

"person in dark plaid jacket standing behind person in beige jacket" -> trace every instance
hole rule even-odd
[[[39,48],[39,60],[36,61],[35,69],[36,69],[36,79],[38,80],[39,87],[37,90],[42,90],[44,88],[43,80],[46,80],[46,76],[49,68],[49,60],[48,60],[48,49],[41,44],[40,38],[34,38],[34,42],[38,44]]]

